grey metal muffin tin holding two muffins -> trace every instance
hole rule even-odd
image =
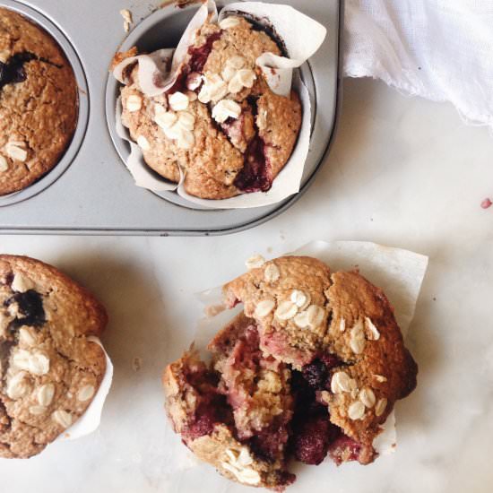
[[[229,3],[229,2],[223,2]],[[275,3],[275,2],[272,2]],[[301,69],[314,108],[310,151],[298,195],[243,210],[197,210],[175,194],[134,185],[122,159],[126,144],[113,134],[117,83],[108,65],[118,49],[177,45],[197,5],[162,8],[162,0],[0,0],[47,30],[64,49],[79,85],[74,139],[45,177],[17,194],[0,197],[0,232],[38,234],[214,235],[252,228],[287,209],[307,190],[324,163],[340,100],[340,0],[283,0],[328,28],[324,45]],[[218,2],[221,5],[221,2]],[[128,8],[134,30],[125,39],[119,11]],[[302,42],[302,40],[300,40]],[[113,137],[113,139],[112,139]]]

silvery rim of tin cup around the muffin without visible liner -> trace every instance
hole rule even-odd
[[[79,59],[79,56],[77,56],[77,53],[75,52],[74,47],[72,46],[70,41],[65,37],[64,32],[56,26],[55,22],[50,21],[48,17],[40,13],[38,10],[35,10],[34,8],[20,2],[15,2],[13,0],[0,0],[0,6],[6,7],[17,13],[21,13],[31,22],[38,24],[39,27],[46,30],[53,39],[56,39],[56,42],[58,43],[60,48],[62,48],[65,53],[65,57],[72,66],[75,81],[79,90],[77,125],[75,127],[74,136],[71,142],[68,144],[64,154],[62,155],[60,160],[58,160],[58,163],[53,169],[49,170],[46,175],[40,177],[32,185],[27,186],[19,192],[0,196],[0,207],[3,207],[5,205],[12,205],[13,203],[22,202],[29,199],[30,197],[33,197],[34,195],[38,195],[40,192],[48,188],[48,186],[51,186],[53,183],[55,183],[56,180],[61,177],[72,164],[75,157],[77,156],[77,152],[81,147],[82,140],[86,133],[87,123],[89,119],[89,90],[87,87],[87,81],[85,78],[84,70],[82,68],[81,60]]]

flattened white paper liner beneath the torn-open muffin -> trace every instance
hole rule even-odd
[[[395,310],[395,318],[404,339],[414,316],[421,282],[428,266],[428,257],[400,248],[383,247],[363,241],[313,241],[286,255],[306,255],[328,264],[332,272],[359,269],[359,272],[384,290]],[[282,255],[280,255],[282,256]],[[197,295],[206,316],[199,321],[195,334],[195,347],[202,350],[221,327],[228,324],[243,306],[221,310],[221,287],[203,291]],[[220,312],[215,316],[207,316]],[[374,447],[379,454],[391,454],[395,450],[396,430],[393,411],[376,437]]]

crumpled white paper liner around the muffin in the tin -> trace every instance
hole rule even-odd
[[[307,87],[301,81],[298,73],[293,74],[293,70],[303,65],[321,46],[326,36],[324,26],[299,13],[289,5],[263,4],[260,2],[238,2],[224,7],[218,17],[215,2],[208,0],[195,13],[194,18],[189,22],[178,46],[173,54],[173,60],[169,74],[164,73],[164,64],[161,60],[163,52],[169,55],[168,50],[159,50],[147,56],[133,56],[125,59],[117,65],[113,74],[119,82],[125,83],[125,67],[137,62],[139,64],[139,82],[143,92],[148,96],[157,96],[167,91],[177,80],[177,70],[185,60],[188,48],[193,42],[195,30],[199,29],[209,15],[212,20],[221,21],[229,14],[243,13],[254,17],[258,22],[272,24],[277,34],[284,42],[290,58],[275,56],[272,53],[265,53],[257,59],[257,65],[261,67],[264,74],[267,74],[267,82],[272,91],[287,95],[290,93],[291,86],[298,91],[301,105],[303,108],[303,119],[301,123],[298,142],[281,173],[274,179],[272,188],[268,192],[255,192],[243,194],[223,200],[200,199],[186,193],[184,187],[185,175],[181,173],[178,184],[173,184],[165,178],[159,177],[154,173],[143,160],[143,152],[138,145],[133,143],[128,135],[128,131],[121,124],[121,102],[117,101],[116,120],[117,134],[130,143],[131,154],[125,161],[126,167],[132,173],[135,185],[147,188],[154,192],[175,191],[178,195],[186,198],[190,203],[195,203],[200,207],[213,209],[242,209],[250,207],[261,207],[296,194],[299,191],[303,169],[307,160],[311,134],[311,105]],[[299,42],[303,39],[303,42]],[[160,83],[154,83],[156,77]]]

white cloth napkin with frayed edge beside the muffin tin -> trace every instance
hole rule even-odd
[[[493,0],[346,0],[344,74],[450,101],[493,132]]]

